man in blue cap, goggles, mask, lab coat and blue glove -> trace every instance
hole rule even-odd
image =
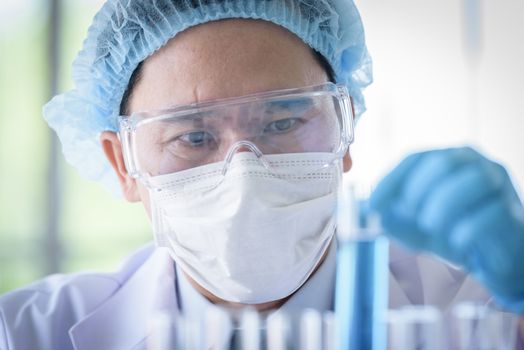
[[[74,78],[46,120],[81,171],[116,174],[124,197],[144,204],[162,249],[116,274],[6,295],[1,349],[143,348],[157,311],[213,304],[332,308],[333,213],[371,81],[351,1],[111,0]],[[391,236],[464,267],[522,312],[524,210],[499,165],[471,149],[417,154],[370,204]],[[405,273],[426,275],[424,264],[393,258],[392,306],[487,299],[444,265],[435,269],[452,293],[430,297]]]

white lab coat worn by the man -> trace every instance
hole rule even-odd
[[[390,307],[427,303],[446,309],[487,300],[471,279],[435,259],[390,254]],[[176,269],[148,245],[113,274],[54,275],[0,297],[1,350],[145,349],[147,320],[179,312]]]

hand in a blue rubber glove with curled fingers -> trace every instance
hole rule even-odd
[[[524,314],[524,209],[501,165],[471,148],[414,154],[379,183],[370,206],[393,238],[466,268]]]

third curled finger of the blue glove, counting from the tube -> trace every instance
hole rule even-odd
[[[421,230],[432,235],[447,234],[460,218],[467,217],[502,191],[507,181],[502,170],[493,162],[476,162],[444,178],[420,205],[418,225]]]

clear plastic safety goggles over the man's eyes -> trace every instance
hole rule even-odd
[[[343,85],[322,85],[195,103],[119,118],[127,170],[134,178],[224,162],[242,151],[264,166],[267,155],[330,153],[340,160],[353,142],[353,109]]]

